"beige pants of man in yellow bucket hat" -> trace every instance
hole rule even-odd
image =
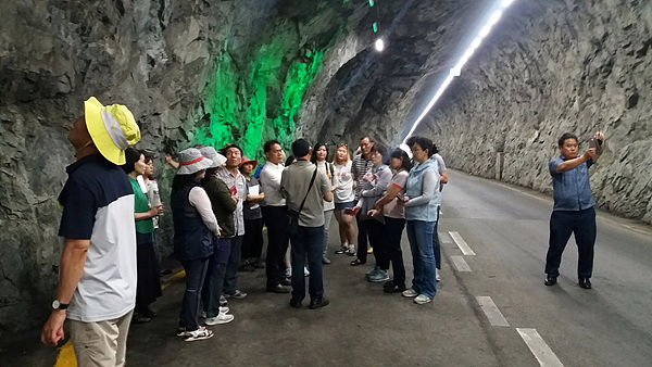
[[[124,366],[127,333],[134,311],[123,317],[98,322],[70,320],[71,342],[77,366]]]

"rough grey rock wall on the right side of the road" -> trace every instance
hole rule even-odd
[[[516,1],[416,134],[447,163],[550,191],[548,162],[570,131],[607,137],[598,206],[652,222],[652,3]]]

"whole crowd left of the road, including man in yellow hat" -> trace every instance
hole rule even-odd
[[[361,139],[353,159],[347,144],[337,144],[330,156],[327,144],[297,139],[287,160],[280,142],[269,140],[261,166],[236,144],[218,151],[195,145],[176,159],[166,156],[176,169],[170,207],[161,202],[152,155],[130,147],[139,139],[126,106],[104,106],[95,98],[68,135],[77,162],[67,168],[59,198],[65,245],[58,298],[41,339],[55,344],[70,319],[82,365],[124,365],[128,325],[156,315],[150,306],[162,295],[156,229],[165,212],[172,212],[173,253],[185,270],[176,333],[186,341],[209,339],[206,326],[235,319],[229,299],[247,298],[239,271],[264,268],[266,291],[290,293],[294,308],[303,307],[309,279],[308,307],[327,306],[323,266],[331,254],[354,256],[351,265],[359,266],[373,253],[368,281],[385,282],[385,292],[402,292],[416,304],[435,296],[432,239],[442,180],[429,139],[408,141],[413,159],[369,137]],[[340,244],[329,249],[334,216]],[[400,244],[405,226],[411,287]],[[101,338],[89,340],[89,327]]]

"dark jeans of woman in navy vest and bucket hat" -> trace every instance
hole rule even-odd
[[[181,303],[179,327],[186,328],[186,331],[195,331],[199,329],[197,313],[199,313],[201,288],[209,268],[209,257],[184,260],[181,265],[186,270],[186,291]]]

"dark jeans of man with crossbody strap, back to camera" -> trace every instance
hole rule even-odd
[[[308,292],[311,300],[324,296],[324,279],[322,278],[322,253],[324,251],[324,226],[299,226],[297,235],[290,236],[292,243],[292,300],[303,301],[305,298],[305,254],[310,268],[310,284]]]

